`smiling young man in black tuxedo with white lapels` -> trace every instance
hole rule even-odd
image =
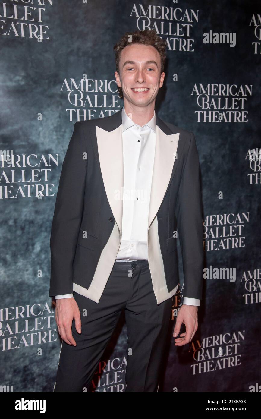
[[[50,296],[61,335],[54,391],[83,391],[122,310],[128,335],[126,391],[158,391],[178,288],[181,243],[187,344],[202,298],[203,230],[199,158],[192,132],[163,122],[155,98],[165,41],[154,31],[125,34],[114,47],[124,106],[76,122],[57,191],[51,232]]]

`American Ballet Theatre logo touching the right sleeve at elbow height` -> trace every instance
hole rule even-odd
[[[245,247],[244,227],[249,212],[207,215],[203,221],[204,251]]]

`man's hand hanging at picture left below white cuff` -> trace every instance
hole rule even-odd
[[[55,321],[62,340],[67,344],[76,346],[72,337],[72,320],[75,320],[75,328],[78,333],[81,331],[81,318],[78,304],[74,298],[59,298],[56,300]]]

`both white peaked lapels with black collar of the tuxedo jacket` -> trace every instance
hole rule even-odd
[[[91,134],[106,195],[120,233],[122,233],[124,175],[121,110],[122,108],[112,116],[98,119],[96,138]],[[179,132],[173,133],[156,114],[156,144],[147,229],[157,215],[176,171],[178,161],[176,153],[181,153],[183,148],[182,145],[177,152],[179,135]]]

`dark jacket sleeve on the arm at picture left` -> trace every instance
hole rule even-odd
[[[75,122],[57,190],[52,220],[49,296],[71,294],[72,263],[83,213],[87,153],[81,122]]]

